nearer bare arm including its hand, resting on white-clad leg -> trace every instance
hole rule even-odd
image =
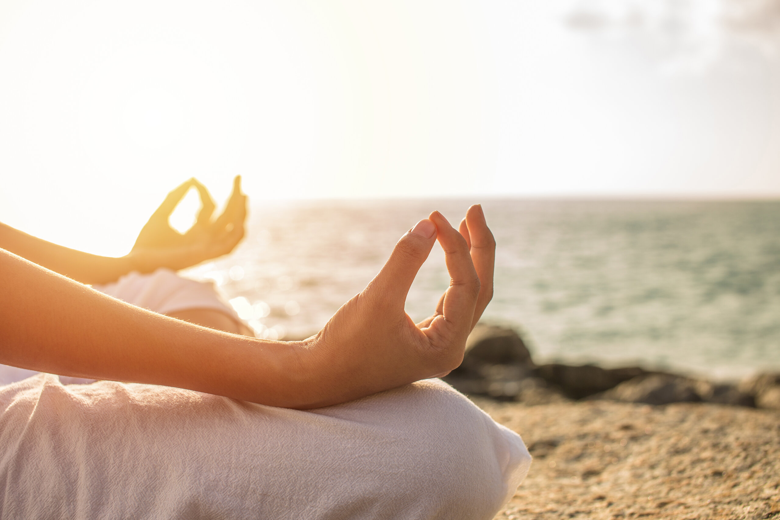
[[[285,408],[351,401],[460,364],[492,293],[495,248],[477,247],[491,237],[478,206],[469,208],[461,233],[434,212],[402,236],[374,280],[316,336],[289,342],[161,316],[0,249],[0,363]],[[450,285],[434,315],[414,324],[406,294],[436,240]]]

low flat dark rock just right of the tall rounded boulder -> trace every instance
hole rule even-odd
[[[623,381],[647,374],[647,371],[639,367],[603,369],[595,365],[569,366],[553,363],[539,366],[536,374],[548,384],[559,387],[566,397],[581,399],[607,391]]]

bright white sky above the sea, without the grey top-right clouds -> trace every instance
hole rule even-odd
[[[0,0],[0,221],[122,254],[193,175],[220,200],[236,174],[254,200],[780,196],[777,59],[669,72],[570,3]]]

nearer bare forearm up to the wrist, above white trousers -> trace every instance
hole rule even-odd
[[[0,251],[0,363],[305,407],[303,342],[212,331],[109,298]]]

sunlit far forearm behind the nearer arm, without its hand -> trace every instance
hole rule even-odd
[[[115,258],[84,253],[27,235],[2,223],[0,248],[84,284],[115,281],[134,269],[129,256]]]

